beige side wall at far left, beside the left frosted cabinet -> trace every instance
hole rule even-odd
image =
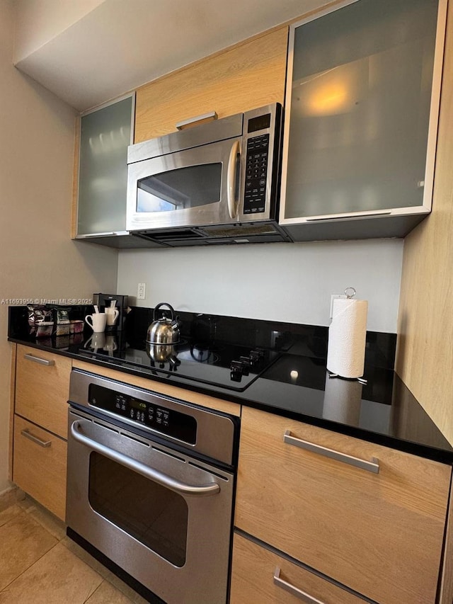
[[[8,483],[8,300],[113,290],[117,252],[70,239],[74,110],[13,67],[13,0],[0,1],[0,494]]]

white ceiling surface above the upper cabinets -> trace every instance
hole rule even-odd
[[[16,67],[84,111],[157,77],[285,23],[323,0],[71,0],[78,14],[49,28]],[[46,0],[48,21],[61,0]],[[85,2],[85,4],[84,4]],[[45,28],[43,0],[19,2],[21,17]],[[34,4],[34,7],[33,7]],[[74,5],[73,5],[74,6]],[[36,24],[31,7],[40,16]],[[39,9],[39,10],[38,10]],[[68,23],[69,21],[69,23]],[[32,27],[18,34],[30,38]],[[24,33],[25,32],[25,33]],[[28,40],[30,42],[30,40]],[[25,46],[27,40],[25,40]]]

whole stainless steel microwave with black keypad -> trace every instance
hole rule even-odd
[[[131,145],[127,230],[166,246],[289,241],[279,103]]]

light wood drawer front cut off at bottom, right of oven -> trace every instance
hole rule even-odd
[[[365,604],[242,535],[234,535],[230,604]]]

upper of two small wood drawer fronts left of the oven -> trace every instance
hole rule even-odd
[[[67,438],[70,373],[70,358],[18,345],[16,414]]]

